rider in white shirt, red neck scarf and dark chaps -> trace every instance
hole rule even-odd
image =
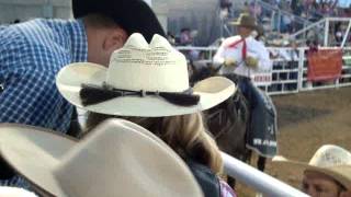
[[[230,23],[237,26],[239,35],[226,38],[216,55],[214,67],[219,74],[237,82],[251,108],[250,127],[247,147],[260,155],[273,157],[276,153],[275,108],[270,97],[253,85],[251,78],[260,71],[271,69],[269,51],[261,42],[252,36],[258,31],[256,19],[240,14],[238,21]]]

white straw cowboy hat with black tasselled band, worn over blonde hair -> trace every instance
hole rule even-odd
[[[56,77],[63,96],[90,112],[160,117],[211,108],[234,94],[235,84],[213,77],[189,85],[185,57],[168,40],[155,35],[148,44],[141,34],[129,36],[105,68],[90,62],[71,63]]]

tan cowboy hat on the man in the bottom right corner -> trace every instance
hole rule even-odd
[[[274,157],[273,162],[297,167],[303,172],[314,171],[326,174],[351,190],[351,153],[341,147],[322,146],[308,163],[287,160],[281,155]]]

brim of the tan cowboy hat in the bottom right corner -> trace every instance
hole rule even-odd
[[[288,159],[285,159],[284,157],[274,157],[273,162],[281,166],[294,167],[299,172],[313,171],[313,172],[322,173],[336,179],[337,182],[342,184],[346,188],[351,190],[351,166],[350,165],[319,167],[319,166],[309,165],[307,163],[288,160]]]

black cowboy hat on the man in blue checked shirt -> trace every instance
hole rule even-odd
[[[154,34],[166,33],[151,8],[144,0],[72,0],[75,19],[98,13],[113,19],[129,35],[140,33],[147,42]]]

